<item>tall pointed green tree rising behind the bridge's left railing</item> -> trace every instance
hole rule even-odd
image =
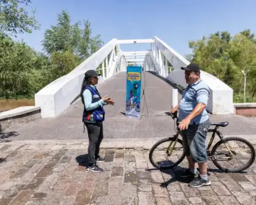
[[[100,49],[103,41],[100,35],[91,37],[92,30],[89,20],[84,21],[84,29],[80,21],[71,24],[70,15],[66,10],[58,14],[58,23],[45,31],[42,42],[43,49],[48,53],[70,51],[80,59],[91,56]]]

